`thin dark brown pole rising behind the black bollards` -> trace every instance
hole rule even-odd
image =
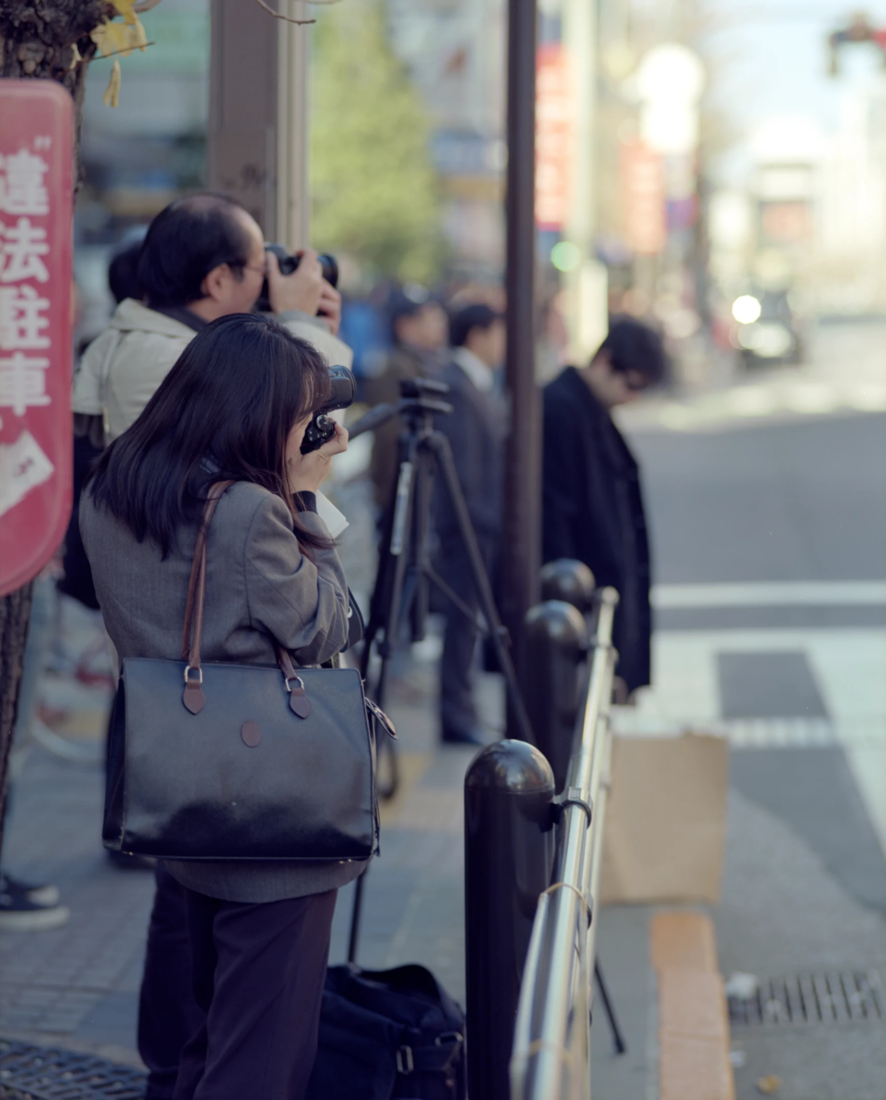
[[[510,398],[506,451],[501,612],[523,675],[524,619],[539,598],[541,568],[541,408],[535,385],[535,0],[509,0],[507,256]],[[508,732],[519,737],[513,715]]]

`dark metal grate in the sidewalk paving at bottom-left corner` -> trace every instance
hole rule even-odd
[[[9,1100],[142,1100],[145,1075],[91,1054],[0,1038],[0,1094]]]

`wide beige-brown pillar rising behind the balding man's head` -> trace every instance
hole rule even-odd
[[[268,241],[310,235],[308,64],[302,0],[212,0],[207,182],[250,211]]]

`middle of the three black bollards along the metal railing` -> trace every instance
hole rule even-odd
[[[529,721],[560,792],[566,785],[575,722],[584,697],[587,626],[572,603],[549,600],[530,608],[525,638]]]

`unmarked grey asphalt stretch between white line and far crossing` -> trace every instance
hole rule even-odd
[[[631,432],[656,583],[886,578],[886,416]]]

